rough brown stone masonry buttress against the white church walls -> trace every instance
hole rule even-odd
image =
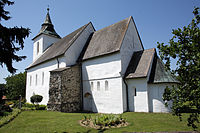
[[[80,66],[50,72],[48,110],[79,112],[82,106]]]

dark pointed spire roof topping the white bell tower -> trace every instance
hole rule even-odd
[[[33,40],[38,37],[41,34],[46,34],[46,35],[50,35],[50,36],[54,36],[57,38],[61,38],[55,31],[54,26],[51,22],[51,18],[49,15],[49,8],[47,8],[47,15],[45,18],[44,23],[42,24],[42,27],[40,29],[40,32],[33,38]]]

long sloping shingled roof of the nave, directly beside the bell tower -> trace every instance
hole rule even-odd
[[[89,23],[52,44],[38,59],[28,66],[27,69],[63,55],[88,25]]]

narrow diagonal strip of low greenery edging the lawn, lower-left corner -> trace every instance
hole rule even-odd
[[[0,127],[12,121],[20,112],[20,109],[13,109],[12,113],[9,113],[7,116],[2,117],[0,119]]]

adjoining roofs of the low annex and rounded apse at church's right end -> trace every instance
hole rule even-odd
[[[165,70],[164,64],[158,58],[155,48],[134,52],[125,77],[126,79],[144,78],[147,77],[149,71],[150,76],[148,83],[179,82],[169,71]]]

